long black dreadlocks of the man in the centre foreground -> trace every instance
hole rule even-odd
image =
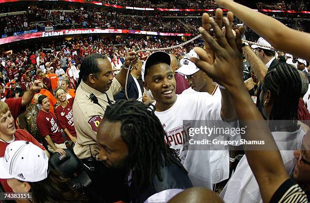
[[[178,154],[166,144],[167,135],[152,107],[134,99],[120,100],[107,106],[103,116],[121,122],[121,137],[129,149],[126,168],[128,174],[132,170],[135,191],[141,191],[156,175],[163,181],[160,171],[166,165],[175,163],[183,169]]]

